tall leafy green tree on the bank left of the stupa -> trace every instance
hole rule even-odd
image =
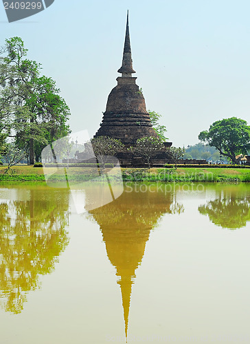
[[[26,58],[21,38],[6,39],[0,54],[0,129],[34,164],[47,144],[69,133],[69,107],[41,65]]]

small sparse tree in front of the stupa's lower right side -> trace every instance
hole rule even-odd
[[[150,159],[163,149],[163,144],[159,138],[153,138],[152,136],[146,136],[145,138],[139,138],[134,147],[130,147],[129,150],[135,155],[144,158],[148,163],[150,169]]]

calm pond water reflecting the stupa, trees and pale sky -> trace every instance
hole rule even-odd
[[[67,189],[2,184],[0,343],[249,343],[249,200],[127,183],[79,215]]]

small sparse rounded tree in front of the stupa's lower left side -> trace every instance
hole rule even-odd
[[[92,138],[90,142],[85,145],[85,153],[94,154],[95,158],[105,167],[109,157],[124,149],[124,144],[115,138],[109,136],[98,136]]]

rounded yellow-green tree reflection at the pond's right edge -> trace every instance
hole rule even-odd
[[[238,229],[250,221],[250,196],[247,189],[225,187],[216,193],[216,200],[199,206],[198,211],[208,215],[211,222],[222,228]]]

